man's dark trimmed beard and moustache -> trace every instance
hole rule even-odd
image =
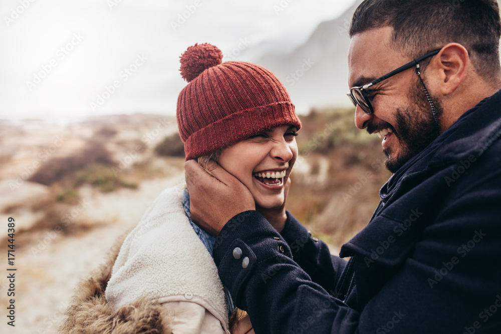
[[[383,150],[388,158],[385,161],[386,168],[392,173],[395,173],[407,161],[424,150],[426,146],[438,137],[438,125],[433,118],[431,106],[419,81],[411,89],[411,92],[409,92],[409,100],[412,105],[406,109],[398,108],[396,110],[395,127],[386,122],[384,122],[386,125],[367,127],[367,130],[372,130],[372,132],[388,127],[392,129],[393,135],[398,138],[400,144],[398,155],[395,153],[392,156],[390,147]],[[440,123],[439,120],[443,110],[439,101],[432,98],[432,102],[435,106],[435,115]]]

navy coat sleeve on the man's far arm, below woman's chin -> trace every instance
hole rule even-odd
[[[287,221],[280,234],[291,248],[293,260],[312,281],[331,295],[338,296],[336,282],[340,279],[347,261],[331,255],[329,247],[322,240],[312,237],[290,212],[287,212]]]

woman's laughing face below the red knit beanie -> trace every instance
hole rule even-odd
[[[296,135],[296,127],[289,125],[260,132],[223,149],[217,162],[250,190],[256,206],[281,206],[298,157]]]

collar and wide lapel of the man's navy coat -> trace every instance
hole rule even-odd
[[[384,205],[384,210],[380,202],[369,224],[341,247],[340,256],[359,255],[367,266],[372,262],[395,266],[403,261],[420,240],[424,226],[433,221],[432,212],[421,212],[433,207],[433,196],[426,198],[422,193],[409,189],[422,186],[420,182],[423,179],[446,166],[482,155],[493,141],[501,137],[499,106],[501,91],[482,100],[461,116],[464,117],[461,124],[452,126],[446,131],[447,134],[444,132],[442,135],[445,134],[447,138],[434,154],[426,157],[428,162],[424,167],[403,175],[397,186],[399,189]],[[405,199],[400,200],[403,196]],[[410,207],[409,203],[413,205]]]

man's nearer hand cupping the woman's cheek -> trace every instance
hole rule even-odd
[[[217,235],[232,217],[255,210],[250,191],[214,161],[206,165],[209,175],[195,160],[184,163],[190,197],[191,219],[212,235]]]

